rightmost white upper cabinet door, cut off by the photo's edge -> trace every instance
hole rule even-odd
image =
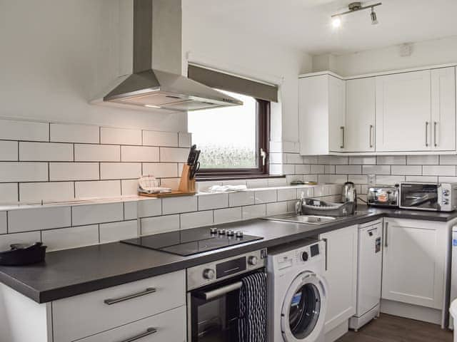
[[[431,149],[456,150],[456,68],[431,71]]]

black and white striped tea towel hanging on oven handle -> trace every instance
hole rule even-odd
[[[241,279],[239,291],[239,342],[266,341],[266,274],[251,274]]]

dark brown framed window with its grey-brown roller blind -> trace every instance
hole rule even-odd
[[[270,102],[276,86],[189,65],[189,78],[211,86],[243,105],[189,112],[192,142],[201,150],[197,179],[268,175]]]

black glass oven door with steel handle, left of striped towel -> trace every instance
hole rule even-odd
[[[241,274],[187,294],[189,342],[238,341],[241,279],[258,271],[265,270]]]

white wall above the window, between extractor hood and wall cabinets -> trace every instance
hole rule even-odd
[[[252,36],[245,28],[227,23],[215,23],[201,19],[201,9],[183,0],[183,52],[197,56],[233,73],[242,73],[274,81],[283,79],[281,85],[280,115],[273,115],[272,140],[298,141],[298,79],[299,73],[311,71],[311,56],[301,51],[284,48],[278,42]],[[227,21],[230,16],[227,14]]]

